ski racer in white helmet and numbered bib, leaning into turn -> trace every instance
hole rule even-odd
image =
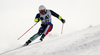
[[[40,40],[43,41],[44,37],[52,30],[53,24],[51,23],[51,15],[61,20],[62,23],[65,23],[65,20],[62,19],[60,15],[55,13],[52,10],[46,9],[43,5],[39,7],[39,13],[35,17],[35,22],[41,21],[41,27],[39,31],[33,35],[25,44],[24,46],[31,43],[33,40],[35,40],[37,37],[41,36]]]

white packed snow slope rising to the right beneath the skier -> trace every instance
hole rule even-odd
[[[29,46],[16,47],[0,55],[100,55],[100,25],[68,35],[48,35]]]

